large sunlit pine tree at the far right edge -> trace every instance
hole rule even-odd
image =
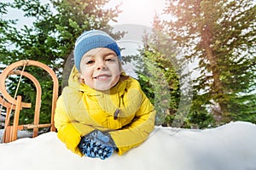
[[[195,81],[191,112],[210,106],[218,123],[256,122],[255,3],[172,0],[165,14],[170,16],[162,22],[167,34],[187,59],[199,61],[201,76]]]

